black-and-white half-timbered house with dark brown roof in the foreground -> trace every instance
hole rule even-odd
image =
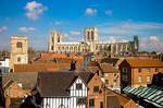
[[[41,108],[87,108],[87,83],[91,76],[88,72],[40,72]]]

